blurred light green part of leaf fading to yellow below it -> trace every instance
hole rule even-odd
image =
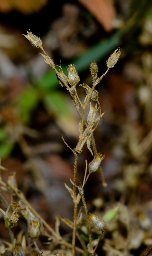
[[[67,103],[67,97],[64,93],[52,92],[45,96],[44,101],[47,108],[51,110],[57,117],[69,117],[71,115],[71,111]]]

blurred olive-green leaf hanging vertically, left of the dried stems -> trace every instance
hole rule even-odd
[[[23,124],[27,124],[30,121],[31,111],[34,110],[38,104],[39,94],[35,88],[28,87],[19,98],[20,105],[20,119]]]

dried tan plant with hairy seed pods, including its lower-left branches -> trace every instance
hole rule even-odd
[[[104,176],[102,173],[101,169],[101,162],[104,158],[104,156],[101,153],[98,153],[96,150],[95,146],[95,140],[93,137],[93,132],[96,129],[97,125],[100,122],[100,119],[102,117],[101,113],[101,108],[100,108],[100,103],[98,99],[98,92],[95,90],[96,85],[101,81],[101,79],[107,74],[108,70],[112,67],[115,66],[121,51],[120,49],[117,49],[113,52],[113,54],[108,58],[107,60],[107,70],[106,72],[97,78],[97,73],[98,73],[98,67],[96,62],[92,62],[90,65],[90,74],[92,77],[92,87],[89,87],[87,84],[79,84],[79,86],[83,87],[86,92],[86,96],[84,98],[84,101],[81,102],[78,93],[77,93],[77,88],[76,86],[78,85],[80,81],[80,77],[75,69],[74,65],[69,65],[68,66],[68,76],[66,76],[63,73],[63,70],[61,66],[59,66],[59,70],[57,70],[53,60],[47,55],[45,50],[42,48],[42,41],[39,37],[33,35],[30,31],[27,32],[27,35],[24,35],[32,45],[35,47],[40,48],[44,53],[41,54],[44,57],[45,62],[56,72],[57,79],[61,86],[64,86],[67,88],[69,95],[73,101],[75,110],[79,113],[80,116],[80,121],[78,123],[78,143],[75,146],[74,149],[72,149],[64,140],[63,136],[62,139],[64,143],[70,148],[70,150],[73,152],[75,156],[74,160],[74,176],[73,176],[73,181],[70,179],[71,184],[73,185],[73,189],[71,189],[67,184],[65,184],[65,187],[68,189],[72,200],[74,204],[74,216],[73,216],[73,221],[66,219],[66,218],[61,218],[60,219],[66,223],[72,230],[72,244],[65,241],[59,232],[59,225],[60,221],[59,218],[56,217],[56,229],[55,231],[46,223],[44,219],[32,208],[32,206],[28,203],[26,198],[24,197],[23,193],[17,188],[17,183],[15,179],[15,174],[10,174],[8,177],[7,183],[4,183],[2,179],[0,178],[0,184],[1,188],[5,191],[9,191],[11,196],[12,196],[12,202],[10,205],[6,202],[6,200],[3,198],[2,194],[0,194],[1,200],[3,201],[5,207],[7,208],[6,211],[3,209],[0,209],[2,214],[4,215],[4,220],[5,220],[5,225],[10,231],[10,235],[12,238],[12,243],[7,243],[7,248],[0,248],[0,250],[6,251],[6,250],[12,250],[13,255],[25,255],[26,251],[26,242],[25,242],[25,237],[23,236],[22,241],[15,241],[14,234],[12,231],[12,228],[14,225],[17,223],[19,219],[19,214],[23,215],[23,217],[27,221],[27,227],[28,227],[28,236],[31,238],[33,241],[31,244],[34,244],[35,250],[40,254],[41,251],[39,250],[35,239],[40,236],[40,234],[47,236],[49,240],[51,240],[52,244],[52,250],[51,252],[53,253],[54,249],[58,246],[64,246],[65,250],[68,250],[70,248],[71,255],[75,255],[75,250],[80,252],[81,254],[84,255],[94,255],[95,250],[98,246],[98,243],[100,239],[102,238],[102,233],[106,229],[106,223],[100,219],[99,217],[95,216],[94,214],[91,214],[88,212],[87,206],[86,206],[86,201],[84,198],[84,185],[88,179],[88,177],[93,173],[100,171],[101,177],[102,177],[102,184],[104,187],[107,186]],[[92,102],[95,101],[95,104]],[[87,118],[85,119],[86,115],[86,110],[88,105],[90,106],[90,110],[88,113]],[[99,112],[99,115],[97,113]],[[87,164],[87,161],[85,160],[86,163],[86,168],[85,168],[85,174],[84,174],[84,179],[83,179],[83,184],[79,182],[79,185],[77,185],[77,162],[78,162],[78,156],[82,152],[82,148],[84,144],[87,144],[87,147],[91,154],[94,156],[93,160]],[[4,167],[0,166],[1,169],[4,170]],[[87,175],[88,171],[88,175]],[[13,199],[18,198],[17,202],[14,202]],[[85,210],[85,215],[86,215],[86,220],[87,220],[87,225],[88,225],[88,236],[89,236],[89,243],[86,246],[84,240],[81,238],[78,232],[78,228],[80,223],[82,222],[82,213],[81,209],[79,213],[77,213],[78,209],[78,204],[80,200],[82,199],[83,202],[83,207]],[[114,214],[115,215],[115,214]],[[48,231],[51,233],[47,233],[44,230],[44,227],[48,229]],[[92,241],[92,231],[96,229],[98,233],[98,238],[94,239]],[[78,248],[75,246],[75,239],[76,237],[79,239],[82,248]],[[2,246],[1,246],[2,247]],[[63,247],[62,247],[63,248]],[[25,250],[25,251],[24,251]],[[30,254],[31,255],[31,254]],[[45,252],[44,252],[45,255]],[[49,254],[51,255],[51,254]],[[61,253],[58,253],[57,255],[63,255]]]

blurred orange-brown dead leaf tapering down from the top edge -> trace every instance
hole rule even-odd
[[[79,2],[94,14],[106,31],[112,29],[115,8],[111,0],[79,0]]]

